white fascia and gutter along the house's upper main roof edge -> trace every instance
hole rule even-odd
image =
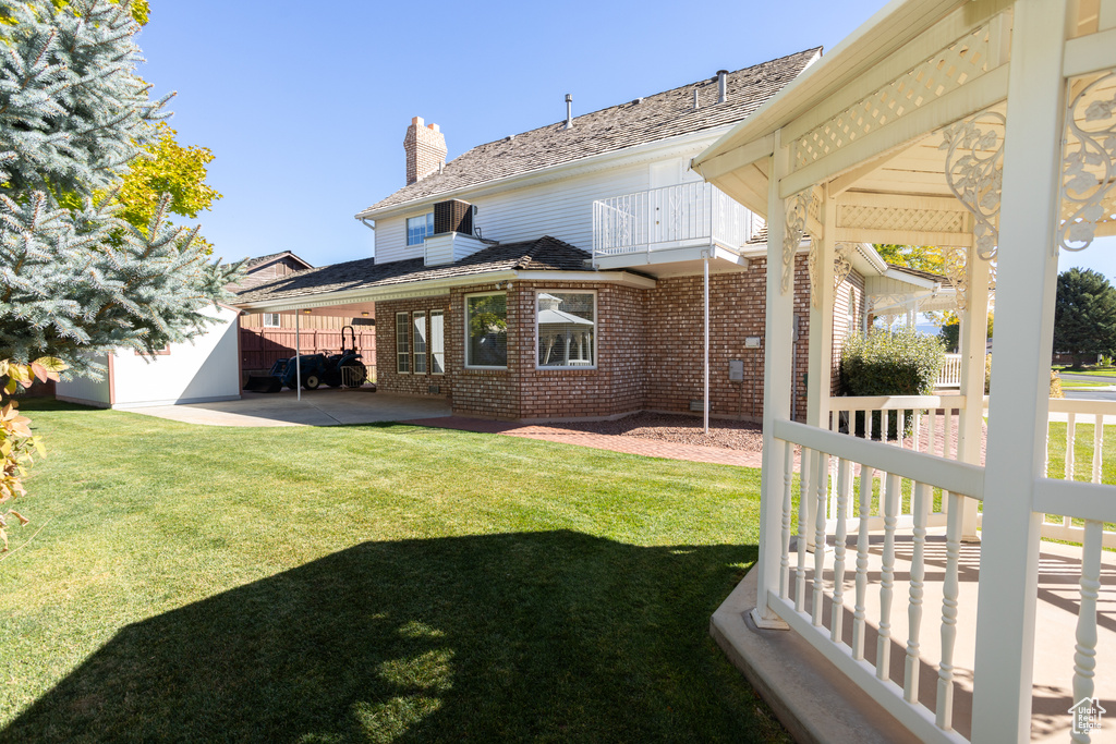
[[[475,199],[478,196],[485,196],[488,194],[507,191],[509,189],[523,189],[540,183],[547,183],[548,181],[573,178],[575,176],[585,175],[595,171],[615,167],[620,163],[625,165],[637,165],[642,162],[651,162],[657,158],[668,157],[672,154],[683,154],[694,147],[704,147],[709,142],[716,139],[731,127],[731,124],[724,124],[711,129],[702,129],[699,133],[682,134],[675,137],[667,137],[666,139],[650,142],[644,145],[625,147],[623,149],[602,153],[599,155],[590,155],[589,157],[583,157],[576,161],[560,163],[558,165],[541,167],[536,171],[517,173],[502,178],[494,178],[492,181],[485,181],[470,186],[462,186],[452,191],[445,191],[430,196],[413,199],[400,204],[393,204],[379,210],[369,209],[358,212],[356,219],[382,220],[385,218],[397,216],[398,214],[405,212],[412,212],[422,206],[434,204],[435,202],[444,202],[450,199],[460,199],[462,196]],[[625,163],[625,161],[627,162]]]

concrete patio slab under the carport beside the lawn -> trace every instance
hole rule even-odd
[[[131,413],[205,426],[341,426],[450,415],[443,398],[374,393],[372,388],[243,393],[240,400],[132,408]]]

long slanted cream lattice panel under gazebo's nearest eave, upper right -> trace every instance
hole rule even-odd
[[[989,27],[966,33],[925,62],[795,142],[795,167],[815,163],[988,71]]]

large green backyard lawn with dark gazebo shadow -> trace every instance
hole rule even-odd
[[[708,635],[758,471],[27,408],[0,741],[787,741]]]

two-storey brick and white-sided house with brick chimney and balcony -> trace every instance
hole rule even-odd
[[[689,163],[819,57],[568,112],[451,162],[445,135],[415,117],[406,185],[356,215],[375,226],[375,258],[260,283],[237,305],[291,318],[374,306],[379,389],[444,396],[460,415],[759,417],[764,225]],[[870,245],[843,255],[853,322],[836,337],[862,322],[866,279],[888,272]],[[805,249],[787,281],[809,296]]]

